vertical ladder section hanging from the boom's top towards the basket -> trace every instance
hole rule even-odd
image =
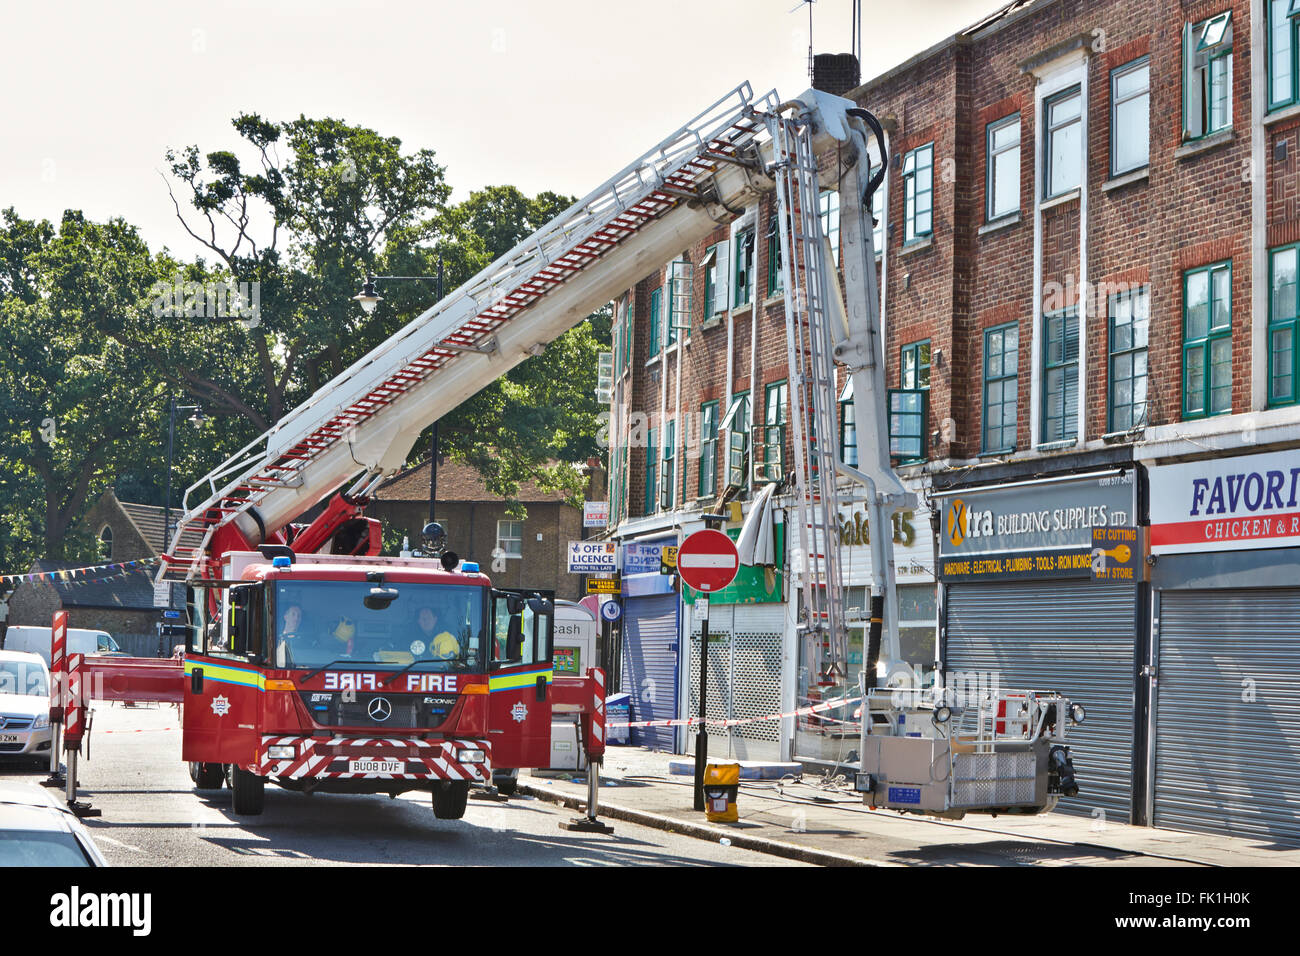
[[[768,118],[774,143],[777,232],[785,282],[798,550],[805,661],[822,685],[846,676],[848,630],[840,572],[836,488],[838,416],[828,326],[828,243],[822,235],[820,182],[812,130],[801,117]],[[837,294],[837,293],[835,293]]]

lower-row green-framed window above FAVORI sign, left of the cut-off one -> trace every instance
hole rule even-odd
[[[1232,263],[1183,273],[1183,418],[1232,411]]]

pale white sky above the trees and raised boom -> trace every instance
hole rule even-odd
[[[237,146],[230,118],[333,116],[428,147],[455,198],[512,183],[582,195],[748,79],[809,86],[796,0],[0,0],[0,208],[122,216],[200,252],[159,172],[168,147]],[[863,0],[863,77],[1001,0]],[[816,52],[852,0],[818,0]]]

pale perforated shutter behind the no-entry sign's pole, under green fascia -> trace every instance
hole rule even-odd
[[[690,704],[699,713],[699,628],[690,622]],[[781,636],[785,605],[718,605],[708,615],[708,715],[746,719],[781,709]],[[718,640],[722,636],[723,640]],[[708,728],[708,753],[737,760],[779,760],[780,722]],[[686,737],[694,753],[696,731]]]

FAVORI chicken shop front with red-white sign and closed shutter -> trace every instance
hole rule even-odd
[[[1300,845],[1300,450],[1148,476],[1147,818]]]

